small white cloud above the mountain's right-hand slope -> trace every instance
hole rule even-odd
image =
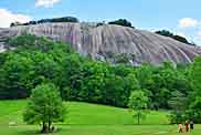
[[[199,25],[199,21],[192,18],[183,18],[179,21],[180,28],[192,28],[198,25]]]

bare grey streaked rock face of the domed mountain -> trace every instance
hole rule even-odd
[[[130,54],[129,62],[133,64],[161,64],[165,61],[189,63],[194,56],[201,55],[201,48],[120,25],[44,23],[0,29],[0,39],[23,33],[70,42],[77,52],[98,60],[109,60],[109,54]]]

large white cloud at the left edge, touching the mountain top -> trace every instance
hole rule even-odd
[[[0,28],[9,28],[12,22],[25,23],[31,21],[31,17],[25,14],[12,13],[7,9],[0,9]]]

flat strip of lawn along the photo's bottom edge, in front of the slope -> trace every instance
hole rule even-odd
[[[173,125],[63,125],[52,135],[180,135]],[[38,126],[19,125],[17,127],[0,126],[1,135],[38,135]],[[188,134],[187,134],[188,135]],[[201,125],[193,133],[201,135]]]

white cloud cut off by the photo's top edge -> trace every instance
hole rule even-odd
[[[35,7],[52,8],[55,3],[61,0],[35,0]]]

